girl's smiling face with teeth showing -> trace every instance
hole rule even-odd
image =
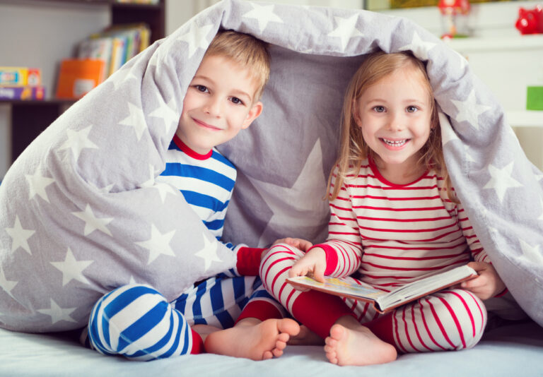
[[[423,79],[416,68],[404,66],[368,87],[354,102],[354,119],[378,155],[380,169],[417,169],[419,151],[430,136],[432,113]]]

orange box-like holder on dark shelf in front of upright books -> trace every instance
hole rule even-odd
[[[103,81],[104,61],[64,59],[60,64],[57,97],[78,99]]]

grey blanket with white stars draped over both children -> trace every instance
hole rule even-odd
[[[181,193],[155,181],[219,28],[255,35],[271,53],[262,116],[218,148],[238,167],[225,241],[325,239],[322,198],[346,84],[365,54],[409,50],[427,61],[469,220],[510,292],[543,325],[542,174],[467,61],[403,18],[229,0],[129,61],[13,163],[0,186],[0,327],[81,328],[95,301],[120,285],[152,285],[173,300],[233,268],[233,253]]]

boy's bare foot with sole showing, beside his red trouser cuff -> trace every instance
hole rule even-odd
[[[300,325],[290,318],[264,322],[245,318],[233,328],[209,334],[204,345],[207,352],[214,354],[266,360],[280,357],[286,342],[299,331]]]

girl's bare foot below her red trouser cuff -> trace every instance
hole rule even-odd
[[[360,324],[357,327],[333,325],[325,342],[326,357],[332,364],[384,364],[397,357],[395,347]]]

